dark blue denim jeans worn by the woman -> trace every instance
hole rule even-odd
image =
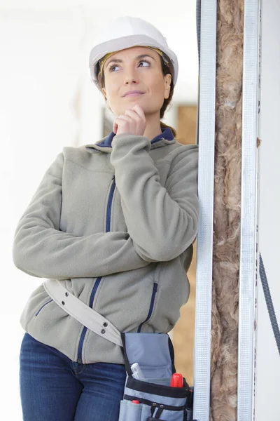
[[[125,366],[80,364],[25,333],[20,349],[23,421],[118,421]]]

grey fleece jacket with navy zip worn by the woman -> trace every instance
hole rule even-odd
[[[13,262],[64,288],[123,332],[171,330],[189,295],[197,235],[198,146],[170,128],[152,141],[114,135],[63,147],[15,229]],[[120,346],[85,328],[46,293],[20,324],[79,363],[124,363]]]

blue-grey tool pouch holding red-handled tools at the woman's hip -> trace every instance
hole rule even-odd
[[[121,333],[127,380],[120,401],[119,421],[192,420],[190,387],[170,387],[174,349],[167,333]],[[132,372],[138,363],[139,372]],[[135,376],[141,379],[135,378]],[[138,401],[134,403],[132,401]]]

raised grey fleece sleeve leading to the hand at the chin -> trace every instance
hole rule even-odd
[[[175,156],[169,154],[173,157],[165,187],[148,153],[148,138],[116,135],[112,147],[111,163],[134,248],[150,262],[176,258],[197,235],[198,146],[184,145]]]

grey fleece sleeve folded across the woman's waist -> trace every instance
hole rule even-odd
[[[13,239],[13,262],[38,278],[96,277],[148,265],[127,232],[74,236],[59,230],[64,154],[60,152],[41,180]]]

